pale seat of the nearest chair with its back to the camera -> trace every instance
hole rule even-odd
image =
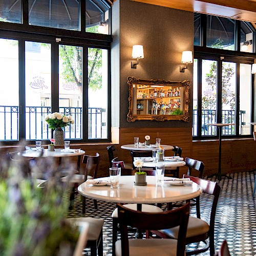
[[[130,256],[176,256],[176,249],[177,240],[173,239],[129,239]],[[116,242],[116,256],[121,256],[121,240]]]

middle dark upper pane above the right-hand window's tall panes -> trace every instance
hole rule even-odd
[[[210,48],[234,50],[234,20],[207,15],[206,45]]]

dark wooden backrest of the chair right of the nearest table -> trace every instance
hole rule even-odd
[[[215,215],[218,205],[218,200],[220,196],[221,187],[215,181],[209,181],[200,179],[194,176],[183,175],[183,178],[189,178],[191,181],[197,183],[203,190],[203,193],[206,193],[210,196],[214,196],[212,199],[211,211],[210,211],[210,222],[209,222],[209,237],[214,238],[214,225],[215,225]],[[200,196],[196,198],[196,209],[197,209],[197,218],[200,218]]]

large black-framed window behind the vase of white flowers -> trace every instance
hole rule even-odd
[[[0,11],[0,81],[4,85],[0,89],[0,115],[4,120],[0,141],[49,140],[53,131],[45,118],[53,112],[71,115],[74,119],[74,124],[65,127],[66,139],[110,141],[111,36],[109,32],[96,37],[92,34],[99,33],[97,28],[105,19],[109,24],[109,9],[104,1],[94,0],[92,12],[89,4],[65,1],[66,11],[70,10],[70,17],[76,19],[72,23],[63,18],[63,1],[54,2],[50,10],[56,8],[56,16],[51,16],[49,22],[49,16],[33,12],[46,13],[51,2],[27,0],[25,7],[30,11],[24,10],[24,13],[29,13],[29,24],[25,24],[25,15],[25,22],[19,27],[13,22],[18,17],[20,1],[14,1],[12,8],[9,1],[4,2],[5,12]],[[95,8],[97,2],[99,5]],[[78,12],[80,7],[84,9]],[[88,12],[95,15],[90,24]],[[81,17],[86,20],[82,21]],[[62,25],[57,26],[57,23]],[[75,23],[80,24],[79,29]],[[63,29],[69,32],[63,33]]]

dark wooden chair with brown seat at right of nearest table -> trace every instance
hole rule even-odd
[[[186,232],[186,244],[197,243],[202,241],[205,243],[205,247],[202,249],[195,249],[194,251],[187,251],[186,255],[198,254],[207,251],[209,248],[210,255],[214,255],[214,225],[216,209],[220,195],[220,186],[217,182],[200,179],[193,176],[184,175],[183,178],[189,178],[202,188],[203,193],[206,193],[209,196],[213,196],[209,198],[212,198],[209,224],[200,219],[200,196],[196,198],[197,217],[189,216]],[[156,234],[160,238],[178,239],[177,228],[169,228],[154,231],[151,230],[149,237],[151,237],[151,233]],[[206,241],[208,238],[209,242]]]

